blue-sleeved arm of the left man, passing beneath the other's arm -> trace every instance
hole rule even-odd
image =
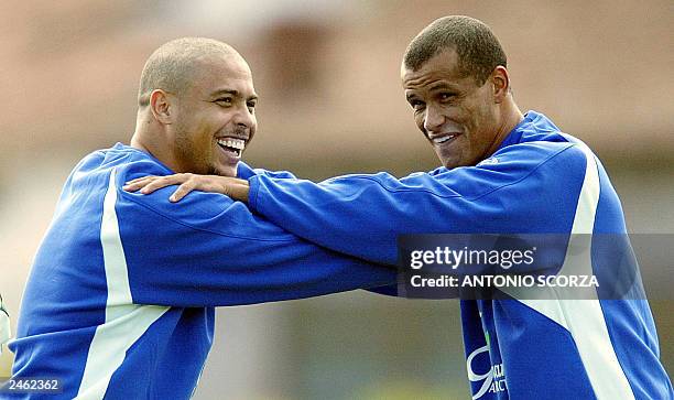
[[[292,235],[243,204],[172,188],[152,195],[121,190],[115,212],[134,302],[238,305],[394,284],[395,269],[338,255]],[[146,173],[146,172],[145,172]]]

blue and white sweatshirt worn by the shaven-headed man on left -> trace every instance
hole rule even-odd
[[[211,347],[214,306],[395,282],[393,268],[309,244],[226,196],[193,192],[173,204],[172,187],[121,188],[171,173],[119,143],[75,167],[9,345],[13,379],[57,379],[62,391],[0,398],[186,399]]]

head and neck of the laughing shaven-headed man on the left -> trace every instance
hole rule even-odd
[[[175,41],[141,75],[131,147],[173,171],[236,176],[258,128],[258,95],[243,57],[217,42]]]

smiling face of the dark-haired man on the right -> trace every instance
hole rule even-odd
[[[442,39],[428,37],[405,55],[405,98],[445,167],[475,165],[493,154],[523,119],[510,94],[506,54],[485,40],[491,48],[474,55],[478,60],[461,62],[466,56],[456,48],[431,47],[436,40]]]

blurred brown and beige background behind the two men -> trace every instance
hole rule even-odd
[[[400,61],[446,14],[491,25],[520,108],[599,154],[630,231],[674,234],[670,0],[3,1],[0,293],[13,325],[65,177],[93,150],[128,143],[140,72],[160,44],[210,36],[248,60],[261,96],[249,163],[314,180],[404,175],[437,161],[404,100]],[[672,304],[651,293],[670,371]],[[0,376],[10,366],[6,352]],[[351,292],[218,310],[196,398],[466,399],[466,378],[456,301]]]

